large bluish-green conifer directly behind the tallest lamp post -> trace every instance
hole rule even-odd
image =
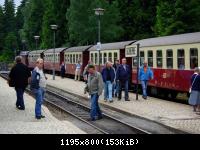
[[[86,45],[97,42],[97,16],[95,8],[104,8],[101,16],[101,41],[111,42],[119,39],[123,29],[118,26],[120,13],[118,2],[109,3],[106,0],[70,0],[70,8],[67,11],[69,40],[72,45]]]

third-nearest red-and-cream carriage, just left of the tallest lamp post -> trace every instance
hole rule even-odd
[[[65,64],[66,64],[66,74],[75,75],[76,63],[78,60],[81,61],[81,74],[83,69],[88,63],[89,60],[89,51],[88,49],[91,46],[79,46],[79,47],[71,47],[65,51]]]

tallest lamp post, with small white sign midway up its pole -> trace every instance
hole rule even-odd
[[[100,72],[100,50],[101,50],[101,22],[100,22],[100,16],[103,15],[104,9],[102,8],[96,8],[94,9],[95,15],[98,16],[98,43],[97,43],[97,50],[99,51],[99,72]]]

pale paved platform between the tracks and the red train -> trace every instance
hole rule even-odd
[[[69,78],[61,79],[59,76],[52,80],[52,75],[47,76],[49,85],[87,97],[87,94],[83,92],[84,82],[74,81]],[[124,97],[124,92],[122,92],[122,97]],[[130,101],[124,101],[124,99],[118,101],[114,98],[114,102],[109,103],[104,102],[103,96],[101,96],[99,102],[176,129],[200,134],[200,115],[194,113],[191,106],[152,97],[149,97],[148,100],[143,100],[139,96],[139,100],[135,100],[134,93],[129,93],[129,97]]]

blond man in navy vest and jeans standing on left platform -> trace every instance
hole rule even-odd
[[[45,116],[42,115],[42,103],[44,100],[44,94],[45,94],[45,88],[46,88],[46,80],[47,77],[45,77],[45,74],[43,72],[43,59],[39,58],[36,61],[36,67],[32,71],[31,76],[31,85],[30,89],[35,95],[35,118],[41,119],[45,118]]]

